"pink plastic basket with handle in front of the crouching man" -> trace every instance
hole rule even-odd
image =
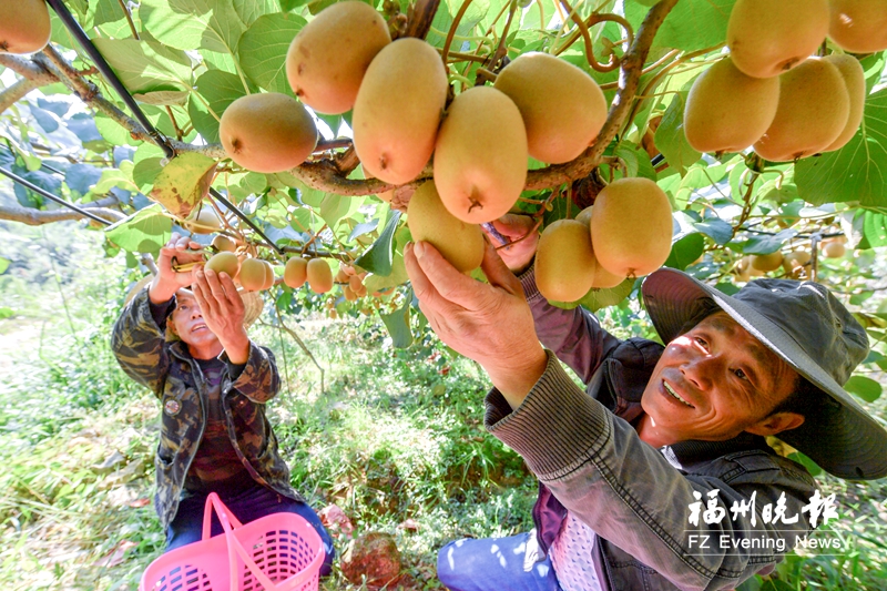
[[[215,509],[225,532],[210,536]],[[166,552],[142,573],[140,591],[316,591],[320,536],[303,517],[273,513],[242,524],[215,492],[203,539]]]

